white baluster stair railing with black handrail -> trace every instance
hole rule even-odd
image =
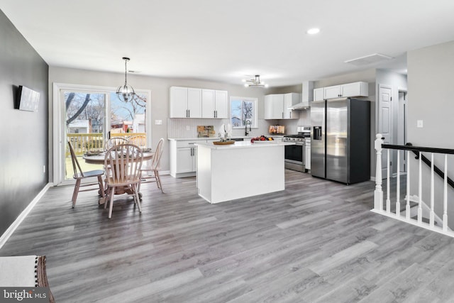
[[[383,203],[383,190],[382,190],[382,150],[387,150],[387,197],[385,203]],[[400,221],[406,221],[407,223],[414,224],[416,226],[421,226],[438,233],[443,233],[448,236],[454,237],[454,232],[448,227],[448,184],[454,182],[448,177],[448,155],[454,155],[454,150],[446,148],[425,148],[418,147],[413,145],[390,145],[383,144],[383,138],[380,133],[377,133],[375,138],[375,150],[376,150],[376,174],[375,174],[375,192],[374,192],[374,209],[372,211],[382,214],[384,216],[389,216]],[[391,200],[390,200],[390,186],[389,186],[389,166],[390,166],[390,156],[389,150],[397,150],[397,167],[400,167],[400,152],[406,153],[406,158],[410,158],[410,152],[415,153],[419,160],[418,162],[418,196],[417,196],[417,219],[411,219],[410,211],[410,165],[407,165],[406,171],[406,196],[405,196],[405,216],[401,215],[401,201],[400,201],[400,170],[397,169],[397,183],[396,183],[396,202],[395,202],[395,213],[391,211]],[[428,160],[425,156],[422,155],[423,152],[431,153],[431,160]],[[445,155],[444,159],[444,170],[440,170],[433,164],[433,155],[435,153],[441,153]],[[423,160],[423,159],[426,160]],[[430,207],[429,207],[429,218],[428,223],[423,222],[423,202],[422,202],[422,162],[426,162],[431,167],[431,194],[430,194]],[[438,170],[438,172],[437,172]],[[436,214],[434,211],[434,172],[443,177],[443,226],[436,226]],[[450,184],[453,186],[452,184]]]

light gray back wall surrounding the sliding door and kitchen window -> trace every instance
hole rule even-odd
[[[118,87],[124,82],[124,74],[111,73],[111,72],[96,72],[91,70],[76,70],[65,67],[49,67],[49,95],[50,95],[50,130],[49,130],[49,150],[50,150],[50,169],[52,172],[52,141],[53,141],[53,130],[52,130],[52,84],[65,83],[65,84],[82,84],[82,85],[94,85],[101,87]],[[252,136],[260,136],[261,134],[267,134],[267,121],[263,120],[264,105],[263,99],[265,94],[268,94],[266,89],[257,88],[246,88],[240,84],[238,79],[238,85],[231,85],[219,82],[208,82],[194,79],[172,79],[172,78],[157,78],[147,77],[140,75],[128,75],[128,83],[132,84],[134,89],[149,89],[151,91],[151,121],[152,121],[152,138],[153,146],[157,144],[160,138],[167,139],[167,119],[169,117],[169,89],[172,86],[181,87],[198,87],[206,89],[220,89],[228,91],[228,95],[236,97],[255,97],[258,98],[258,114],[259,114],[259,129],[253,129]],[[155,125],[155,120],[162,120],[162,125]],[[243,135],[242,130],[234,130],[234,136]],[[167,141],[165,141],[165,150],[168,150]],[[169,170],[169,157],[168,153],[165,152],[162,155],[161,160],[162,170]],[[50,180],[53,177],[50,176]]]

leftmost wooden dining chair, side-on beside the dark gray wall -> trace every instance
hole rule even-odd
[[[77,160],[76,153],[74,153],[74,148],[72,148],[70,141],[68,141],[68,146],[70,148],[72,169],[74,170],[74,175],[72,177],[76,180],[76,184],[74,185],[74,192],[72,193],[72,208],[74,208],[74,206],[76,205],[77,194],[79,194],[79,192],[87,192],[89,190],[99,189],[99,194],[101,195],[101,197],[104,197],[104,186],[102,180],[104,170],[89,170],[87,172],[82,171],[82,168],[79,165],[79,161]],[[92,177],[97,177],[98,182],[82,184],[82,180]],[[94,185],[98,185],[98,187],[93,187]],[[80,187],[91,188],[81,190]]]

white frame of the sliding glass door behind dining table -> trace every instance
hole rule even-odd
[[[52,184],[56,185],[66,185],[74,183],[74,180],[65,180],[65,148],[66,142],[65,138],[65,127],[63,122],[65,119],[65,106],[62,106],[62,95],[60,92],[63,90],[68,91],[77,91],[77,92],[97,92],[101,94],[110,94],[111,92],[116,92],[116,87],[101,87],[96,85],[84,85],[84,84],[68,84],[68,83],[58,83],[54,82],[52,84]],[[145,123],[146,123],[146,133],[147,144],[150,146],[151,141],[151,91],[150,89],[135,89],[135,92],[141,94],[147,94],[147,105],[145,108]],[[109,97],[106,99],[106,125],[109,125],[110,121],[110,101]],[[107,131],[107,128],[106,128]],[[106,133],[104,134],[106,136]]]

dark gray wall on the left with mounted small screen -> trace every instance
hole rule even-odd
[[[2,11],[0,41],[1,235],[45,187],[49,170],[48,65]],[[40,92],[37,112],[14,109],[18,85]]]

